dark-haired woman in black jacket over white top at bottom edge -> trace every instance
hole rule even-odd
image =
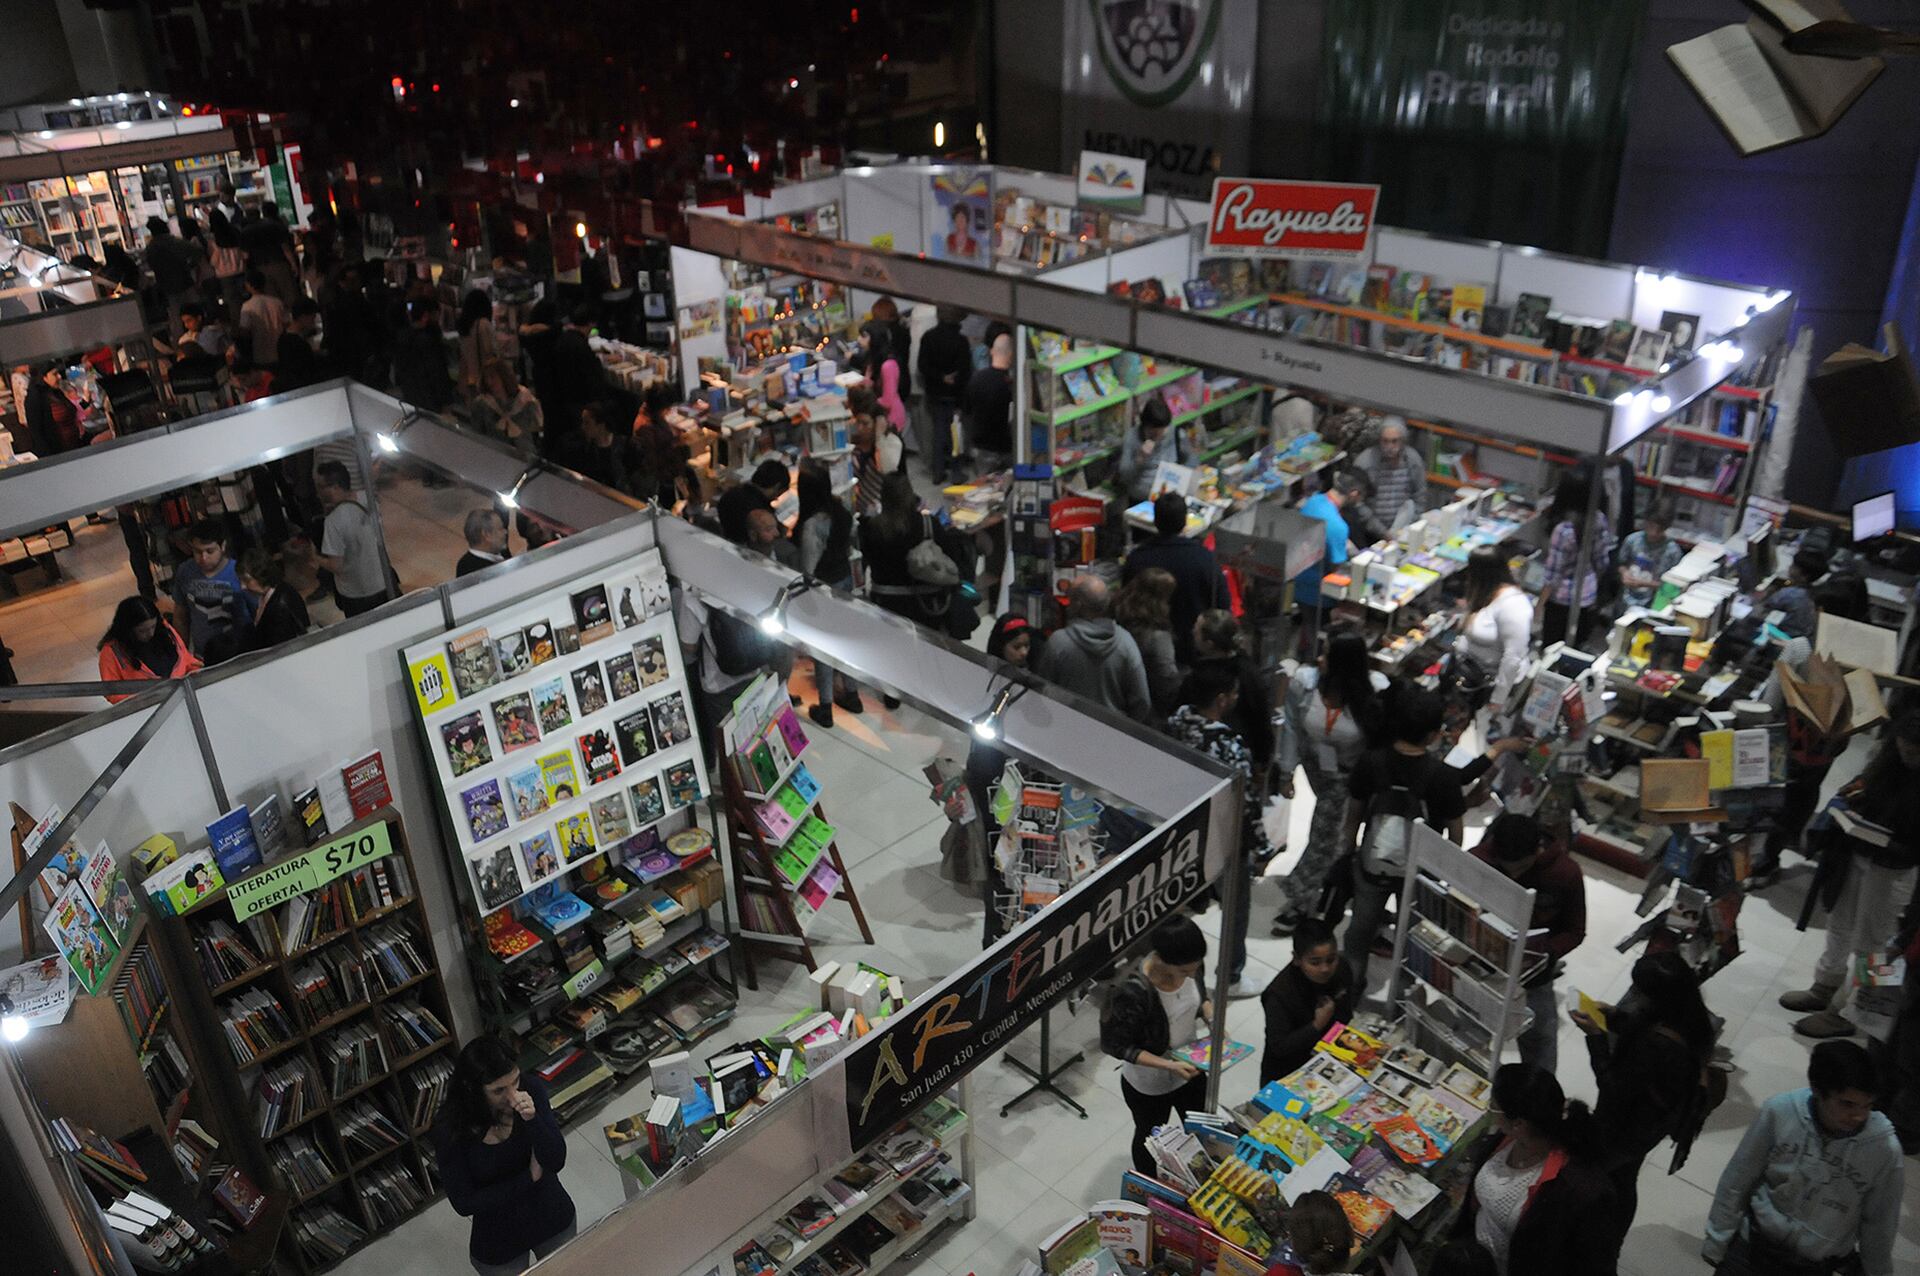
[[[1500,1276],[1613,1276],[1619,1228],[1594,1113],[1569,1103],[1553,1073],[1507,1063],[1494,1073],[1492,1115],[1461,1226]]]

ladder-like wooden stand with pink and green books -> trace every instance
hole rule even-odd
[[[749,988],[760,986],[755,950],[820,969],[806,931],[831,900],[847,904],[860,938],[874,942],[820,781],[803,758],[806,744],[785,685],[772,675],[755,679],[720,721],[722,812]]]

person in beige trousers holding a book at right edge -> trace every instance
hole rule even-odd
[[[1847,973],[1860,954],[1887,946],[1901,910],[1914,892],[1920,865],[1920,708],[1893,720],[1889,739],[1866,771],[1834,800],[1834,829],[1799,925],[1814,902],[1828,908],[1826,948],[1812,967],[1812,986],[1782,994],[1780,1004],[1805,1011],[1801,1036],[1851,1036],[1857,1028],[1836,1005],[1845,1004]]]

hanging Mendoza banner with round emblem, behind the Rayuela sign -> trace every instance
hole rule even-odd
[[[1150,192],[1188,200],[1246,171],[1258,0],[1060,2],[1062,155],[1133,155]]]

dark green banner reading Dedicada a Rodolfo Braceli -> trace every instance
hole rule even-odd
[[[1603,257],[1644,17],[1645,0],[1327,6],[1317,175],[1379,182],[1382,224]]]

